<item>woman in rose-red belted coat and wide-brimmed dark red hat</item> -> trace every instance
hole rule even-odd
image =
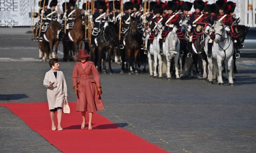
[[[100,75],[92,61],[88,61],[89,54],[86,49],[80,49],[79,54],[76,55],[80,59],[73,69],[73,86],[76,93],[76,111],[82,113],[82,125],[84,128],[86,119],[85,113],[89,112],[88,129],[92,129],[92,116],[98,110],[104,110],[104,105],[100,94]],[[94,76],[94,78],[92,77]]]

